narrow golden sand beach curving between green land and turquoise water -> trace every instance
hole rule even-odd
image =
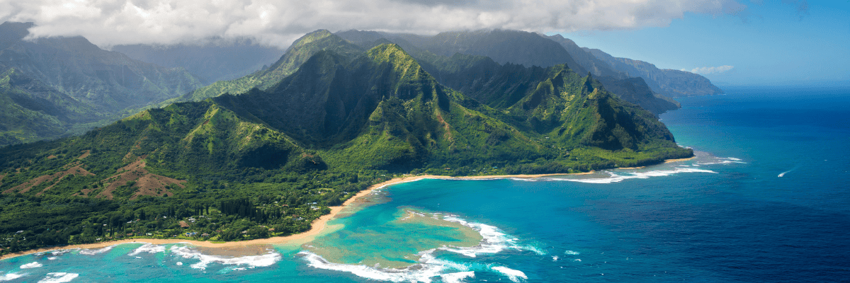
[[[664,163],[675,162],[675,161],[688,161],[696,158],[696,156],[683,158],[683,159],[668,159],[664,161]],[[627,169],[627,168],[621,168]],[[283,245],[293,241],[302,241],[309,237],[319,235],[322,230],[327,227],[327,222],[333,218],[336,218],[339,212],[342,212],[344,208],[350,207],[354,201],[364,197],[365,195],[371,194],[374,190],[380,190],[384,187],[394,185],[394,184],[402,184],[408,182],[416,182],[422,179],[432,178],[432,179],[444,179],[444,180],[475,180],[475,179],[500,179],[500,178],[543,178],[543,177],[551,177],[551,176],[564,176],[564,175],[587,175],[595,173],[595,171],[586,172],[586,173],[550,173],[550,174],[518,174],[518,175],[487,175],[487,176],[461,176],[461,177],[451,177],[451,176],[440,176],[440,175],[416,175],[416,176],[407,176],[407,177],[397,177],[390,178],[387,181],[383,181],[378,184],[372,184],[365,190],[361,190],[349,198],[347,201],[343,202],[343,204],[339,207],[329,207],[331,208],[331,212],[322,215],[320,218],[317,218],[310,225],[310,229],[299,234],[295,235],[286,235],[286,236],[278,236],[271,237],[265,239],[256,239],[256,240],[248,240],[248,241],[228,241],[224,243],[214,243],[211,241],[195,241],[195,240],[182,240],[182,239],[149,239],[149,238],[136,238],[136,239],[126,239],[120,241],[107,241],[107,242],[99,242],[92,244],[76,244],[76,245],[67,245],[67,246],[50,246],[50,247],[41,247],[34,250],[27,250],[24,252],[14,252],[8,253],[3,256],[0,256],[0,260],[5,260],[8,258],[17,258],[20,256],[26,256],[28,254],[39,253],[39,252],[53,252],[60,250],[73,250],[73,249],[96,249],[96,248],[104,248],[107,246],[115,246],[121,244],[132,244],[132,243],[149,243],[153,245],[165,245],[165,244],[190,244],[192,246],[200,246],[206,248],[228,248],[228,247],[244,247],[244,246],[257,246],[257,245]]]

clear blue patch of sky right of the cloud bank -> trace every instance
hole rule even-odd
[[[850,1],[746,5],[741,14],[686,13],[667,26],[562,35],[615,57],[693,71],[719,86],[850,86]]]

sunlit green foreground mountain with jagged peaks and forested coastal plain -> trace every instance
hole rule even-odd
[[[309,57],[285,55],[280,65],[300,65],[269,86],[0,149],[2,252],[290,235],[401,174],[576,173],[693,155],[652,113],[566,65],[496,64],[520,87],[462,93],[398,45],[353,52],[332,37],[297,45]]]

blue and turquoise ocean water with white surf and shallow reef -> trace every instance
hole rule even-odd
[[[726,90],[661,116],[694,160],[397,184],[303,246],[48,252],[3,260],[0,281],[847,282],[850,90]]]

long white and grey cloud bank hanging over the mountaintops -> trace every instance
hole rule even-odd
[[[666,26],[685,13],[738,14],[737,0],[0,0],[0,22],[33,21],[35,37],[101,46],[252,37],[285,47],[325,28],[433,34],[515,29],[592,31]]]

